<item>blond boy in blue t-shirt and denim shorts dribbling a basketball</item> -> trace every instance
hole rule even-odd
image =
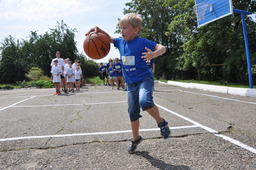
[[[140,38],[142,19],[138,14],[127,14],[120,21],[119,26],[123,38],[112,38],[98,27],[90,32],[101,32],[110,38],[110,42],[119,49],[122,57],[122,70],[127,83],[128,113],[131,120],[132,136],[128,153],[135,152],[142,137],[139,136],[140,108],[147,111],[157,122],[163,138],[168,138],[170,129],[168,123],[160,116],[158,107],[153,101],[153,75],[146,64],[166,52],[166,48],[148,39]]]

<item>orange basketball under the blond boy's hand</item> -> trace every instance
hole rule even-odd
[[[110,50],[109,38],[103,33],[91,33],[84,40],[84,52],[88,57],[98,60],[106,57]]]

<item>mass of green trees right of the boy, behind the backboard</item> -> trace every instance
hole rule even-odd
[[[197,29],[194,0],[132,0],[124,13],[143,18],[143,37],[167,47],[155,60],[156,77],[248,83],[247,63],[239,14]],[[233,1],[234,9],[254,12],[256,2]],[[247,20],[252,71],[256,78],[256,23]]]

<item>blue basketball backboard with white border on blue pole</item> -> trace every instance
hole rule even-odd
[[[233,4],[232,0],[195,0],[194,10],[197,25],[201,27],[233,14]]]

